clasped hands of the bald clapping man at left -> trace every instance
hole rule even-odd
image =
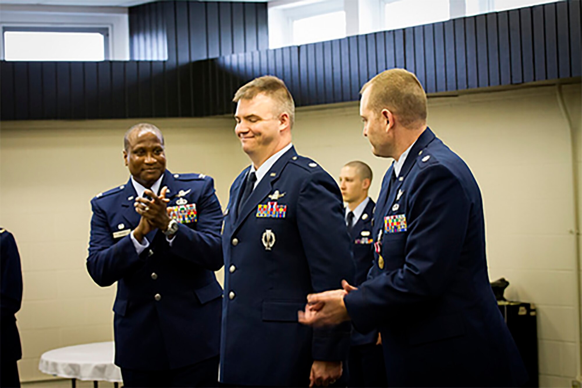
[[[170,200],[166,198],[167,193],[168,188],[165,186],[159,196],[155,195],[151,190],[145,190],[144,194],[151,197],[151,199],[138,197],[136,202],[133,203],[137,214],[141,215],[140,223],[134,231],[134,236],[139,241],[154,229],[161,229],[162,231],[168,229],[170,223],[168,202]]]

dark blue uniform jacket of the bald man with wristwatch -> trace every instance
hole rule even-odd
[[[179,225],[172,247],[162,231],[148,233],[150,246],[139,256],[127,233],[140,220],[131,179],[91,200],[87,269],[100,286],[118,282],[115,364],[122,368],[175,369],[218,355],[222,288],[213,271],[223,263],[222,210],[214,181],[166,170],[164,186],[168,207],[186,199],[196,204],[197,220]],[[121,230],[127,234],[116,237]]]

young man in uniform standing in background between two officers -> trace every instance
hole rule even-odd
[[[352,239],[352,252],[356,264],[354,286],[367,279],[374,262],[372,226],[375,202],[368,196],[372,183],[372,169],[363,161],[354,160],[342,167],[339,189],[346,203],[347,232]],[[386,372],[381,339],[378,330],[360,333],[352,330],[350,347],[349,387],[385,387]]]

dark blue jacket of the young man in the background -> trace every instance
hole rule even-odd
[[[370,198],[360,218],[354,224],[350,235],[350,238],[352,238],[354,263],[356,263],[356,281],[353,284],[354,286],[358,286],[366,281],[370,267],[372,267],[374,262],[374,236],[372,236],[374,206],[375,203]],[[377,330],[360,333],[354,329],[352,331],[352,346],[376,343],[377,338]]]

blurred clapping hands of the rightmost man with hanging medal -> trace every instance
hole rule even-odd
[[[350,316],[347,314],[343,297],[353,290],[357,288],[343,280],[342,289],[308,294],[305,311],[297,312],[299,322],[304,325],[322,327],[349,321]]]

